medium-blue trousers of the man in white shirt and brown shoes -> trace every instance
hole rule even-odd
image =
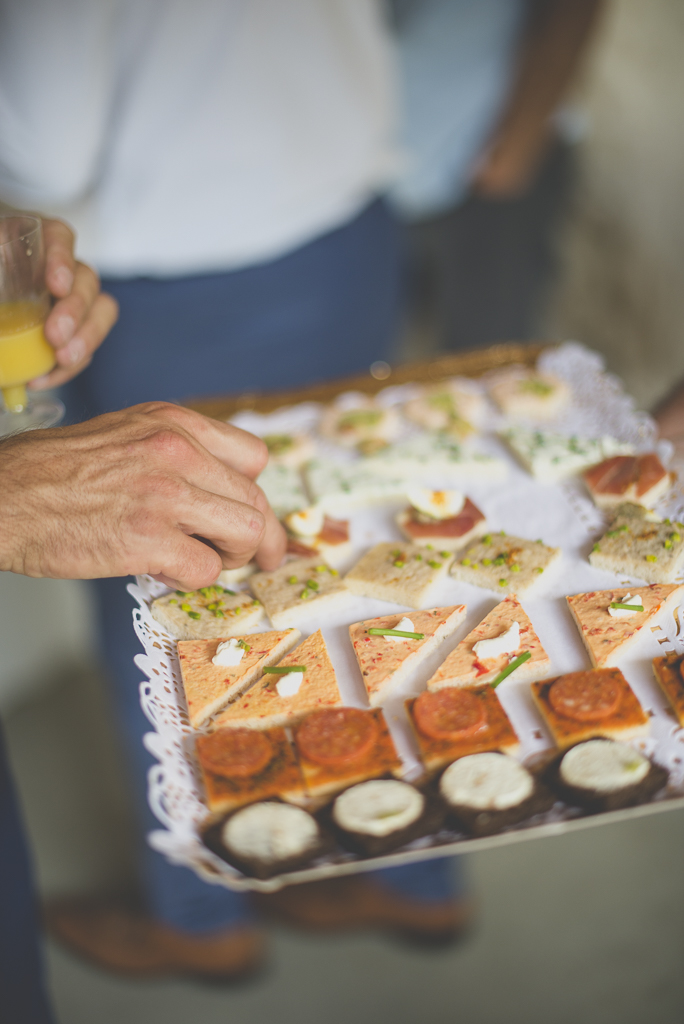
[[[69,414],[84,419],[151,399],[282,389],[354,374],[388,358],[400,312],[399,230],[382,202],[345,226],[269,263],[173,280],[104,281],[120,319],[92,365],[70,386]],[[122,580],[95,583],[100,645],[112,679],[143,830],[160,827],[146,802],[153,763],[142,745],[139,644]],[[241,894],[201,882],[146,847],[151,911],[186,931],[249,915]],[[446,862],[390,871],[387,884],[422,899],[452,892]]]

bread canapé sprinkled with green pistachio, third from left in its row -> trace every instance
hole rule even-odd
[[[415,544],[376,544],[344,582],[361,597],[424,608],[434,585],[446,575],[452,557],[451,552],[430,552]]]

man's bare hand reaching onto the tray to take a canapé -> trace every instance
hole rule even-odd
[[[263,441],[164,402],[0,442],[0,569],[94,579],[147,572],[185,590],[286,547],[254,482]],[[208,543],[206,543],[208,542]]]

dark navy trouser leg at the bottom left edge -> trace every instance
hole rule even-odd
[[[1,731],[0,1020],[3,1024],[53,1024],[43,983],[29,853]]]

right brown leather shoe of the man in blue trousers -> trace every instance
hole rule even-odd
[[[426,902],[403,896],[361,874],[252,893],[264,916],[310,931],[380,930],[430,945],[451,944],[473,923],[469,900]]]

